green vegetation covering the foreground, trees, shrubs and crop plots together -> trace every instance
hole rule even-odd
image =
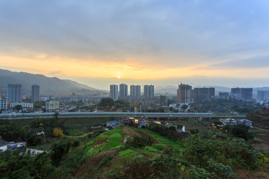
[[[269,171],[268,154],[250,145],[247,140],[251,136],[246,126],[227,125],[221,130],[229,136],[224,139],[217,138],[217,131],[177,138],[172,136],[176,134],[174,128],[159,125],[150,126],[150,130],[130,127],[130,134],[126,133],[128,130],[122,131],[123,127],[107,132],[100,129],[84,137],[67,139],[60,134],[66,129],[57,114],[50,120],[35,119],[30,126],[42,126],[50,132],[52,151],[36,156],[26,150],[22,155],[18,150],[0,152],[0,178],[232,179],[237,175],[234,169]],[[24,127],[12,121],[0,120],[0,134],[9,137],[11,134],[4,127],[21,130],[13,138],[21,136],[31,141],[31,145],[49,147],[48,144],[39,145],[38,136],[26,134]],[[54,129],[60,137],[53,137]],[[141,130],[148,136],[133,136],[133,130]],[[124,144],[127,135],[133,140]],[[160,144],[152,144],[149,136]]]

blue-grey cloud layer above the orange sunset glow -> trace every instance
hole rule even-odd
[[[268,62],[268,22],[265,0],[0,0],[0,53],[254,67],[241,56]]]

